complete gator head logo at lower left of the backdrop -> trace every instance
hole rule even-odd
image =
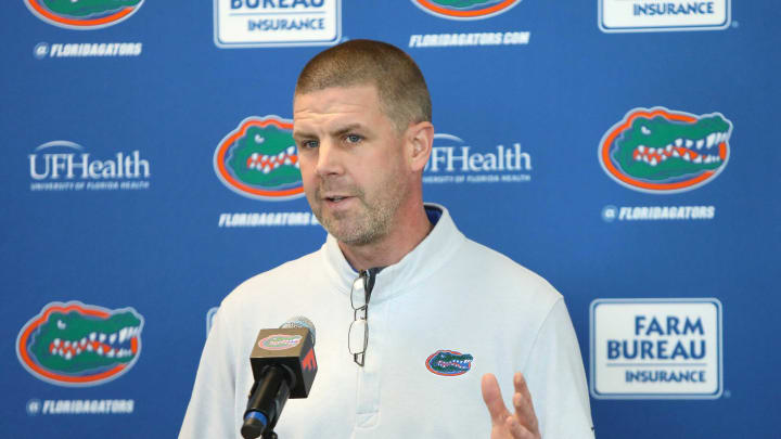
[[[16,357],[36,378],[67,387],[107,383],[136,364],[143,317],[79,301],[52,302],[16,338]]]

